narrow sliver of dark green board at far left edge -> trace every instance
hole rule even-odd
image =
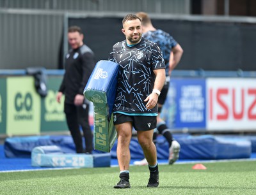
[[[0,78],[0,134],[6,134],[6,78]]]

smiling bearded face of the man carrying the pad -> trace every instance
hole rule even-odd
[[[141,40],[141,22],[139,19],[136,20],[128,20],[124,23],[124,28],[122,32],[125,34],[127,43],[130,45],[134,45],[139,43]]]

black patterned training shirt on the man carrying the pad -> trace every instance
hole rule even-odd
[[[118,42],[113,46],[109,61],[120,64],[113,112],[156,115],[157,106],[148,110],[144,100],[154,87],[156,75],[153,70],[165,68],[163,54],[157,44],[143,38],[132,47],[128,47],[126,41]]]

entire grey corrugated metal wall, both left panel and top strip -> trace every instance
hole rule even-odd
[[[62,67],[67,13],[189,13],[190,0],[0,0],[0,69]]]

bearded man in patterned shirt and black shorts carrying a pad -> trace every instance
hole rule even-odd
[[[120,64],[116,99],[113,108],[118,134],[116,154],[120,182],[114,188],[129,188],[129,144],[132,127],[148,161],[148,187],[159,185],[156,146],[152,141],[156,128],[157,99],[164,85],[165,64],[156,43],[141,38],[141,19],[129,14],[124,17],[122,32],[125,40],[113,46],[109,61]]]

